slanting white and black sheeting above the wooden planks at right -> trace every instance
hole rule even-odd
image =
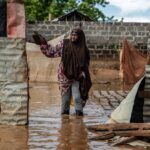
[[[133,86],[127,97],[112,112],[108,123],[149,123],[150,98],[139,96],[139,91],[150,92],[150,65],[145,67],[145,75]]]

